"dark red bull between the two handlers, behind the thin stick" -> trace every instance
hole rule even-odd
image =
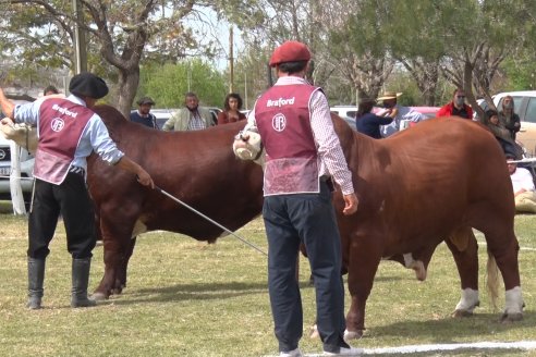
[[[236,159],[231,150],[243,122],[168,133],[131,123],[112,107],[99,106],[95,111],[118,147],[163,190],[232,231],[260,213],[263,171]],[[218,226],[97,156],[88,160],[87,183],[105,250],[105,275],[94,294],[97,299],[124,287],[137,234],[166,230],[208,242],[223,235]]]

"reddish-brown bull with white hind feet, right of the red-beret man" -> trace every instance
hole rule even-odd
[[[502,273],[502,318],[521,319],[512,185],[495,137],[478,123],[456,119],[429,120],[381,140],[334,123],[360,198],[355,214],[338,214],[352,296],[346,337],[363,334],[365,305],[380,259],[401,261],[424,279],[443,241],[461,278],[456,312],[472,313],[478,305],[478,246],[472,227],[484,233]],[[333,202],[341,212],[340,190]]]

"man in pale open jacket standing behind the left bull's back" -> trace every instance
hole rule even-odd
[[[163,123],[162,131],[200,131],[214,124],[210,111],[199,107],[197,95],[192,91],[187,93],[184,104],[185,108],[173,112],[170,119]]]

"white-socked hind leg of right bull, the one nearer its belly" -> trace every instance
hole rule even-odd
[[[478,299],[478,244],[471,227],[463,227],[446,241],[460,274],[462,297],[453,312],[454,317],[472,316]]]

